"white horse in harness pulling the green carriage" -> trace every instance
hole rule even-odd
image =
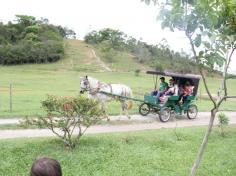
[[[80,80],[80,93],[83,94],[85,91],[89,92],[90,98],[94,98],[101,103],[104,112],[106,112],[106,102],[111,100],[120,101],[121,114],[125,113],[125,115],[130,118],[128,109],[132,107],[132,101],[127,101],[127,99],[122,98],[132,97],[132,90],[130,87],[123,84],[106,84],[95,78],[85,76]]]

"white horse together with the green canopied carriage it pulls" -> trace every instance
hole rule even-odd
[[[132,100],[139,102],[139,113],[143,116],[149,113],[155,113],[159,115],[162,122],[167,122],[171,115],[176,114],[187,114],[189,119],[194,119],[197,116],[198,109],[194,104],[196,100],[196,94],[198,90],[198,84],[201,76],[193,74],[177,74],[170,72],[158,72],[158,71],[147,71],[147,74],[153,75],[155,78],[155,89],[157,87],[158,76],[171,77],[178,87],[185,85],[187,82],[191,85],[192,92],[185,97],[184,101],[180,104],[181,92],[175,95],[168,95],[166,101],[162,102],[159,97],[154,95],[145,94],[144,99],[137,99],[132,97],[132,90],[122,84],[106,84],[102,83],[91,77],[84,77],[80,82],[80,92],[88,91],[90,97],[97,99],[104,106],[106,101],[116,99],[121,102],[122,110],[126,112],[128,116],[128,106],[125,103],[126,100]]]

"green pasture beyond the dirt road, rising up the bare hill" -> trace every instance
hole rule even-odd
[[[153,89],[154,81],[151,75],[144,72],[140,76],[134,75],[135,62],[131,67],[132,59],[124,54],[122,59],[114,63],[113,68],[120,71],[101,72],[101,67],[91,55],[90,46],[77,40],[68,40],[66,43],[65,58],[53,64],[35,64],[19,66],[0,66],[0,117],[22,117],[42,114],[40,101],[47,94],[59,96],[77,96],[79,93],[79,81],[81,76],[90,75],[106,83],[123,83],[130,86],[134,97],[143,99],[144,93]],[[127,60],[127,63],[125,62]],[[122,70],[122,65],[124,70]],[[127,65],[131,67],[127,70]],[[210,90],[216,93],[220,80],[208,78]],[[9,112],[9,85],[12,84],[12,108]],[[236,80],[228,82],[229,93],[236,94]],[[197,101],[200,111],[208,111],[212,107],[207,100],[203,85],[199,87],[199,95],[204,97]],[[137,106],[130,111],[138,113]],[[236,110],[235,101],[224,102],[222,109]],[[118,102],[109,104],[109,114],[119,114]]]

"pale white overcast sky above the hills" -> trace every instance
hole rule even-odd
[[[140,0],[1,0],[0,21],[6,23],[16,14],[47,18],[55,25],[66,26],[78,39],[91,30],[119,29],[149,44],[166,38],[172,49],[190,53],[189,44],[181,32],[162,30],[157,22],[157,7]],[[231,64],[236,73],[236,57]]]

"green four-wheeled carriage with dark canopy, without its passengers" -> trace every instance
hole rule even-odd
[[[193,88],[192,93],[188,95],[184,102],[180,103],[181,92],[176,95],[167,96],[167,100],[161,102],[156,96],[151,94],[144,95],[144,102],[139,106],[139,113],[143,116],[151,113],[156,113],[162,122],[167,122],[171,115],[187,114],[189,119],[194,119],[197,116],[198,109],[194,104],[198,90],[198,84],[201,76],[193,74],[177,74],[170,72],[147,71],[147,74],[152,74],[155,77],[155,88],[157,87],[158,75],[171,77],[178,87],[189,83]],[[154,89],[155,89],[154,88]]]

